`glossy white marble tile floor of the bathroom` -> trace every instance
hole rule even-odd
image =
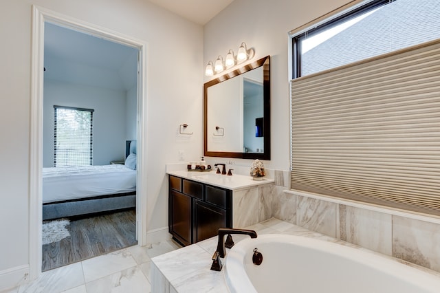
[[[151,258],[180,248],[173,240],[131,246],[43,272],[39,279],[1,293],[151,292]]]

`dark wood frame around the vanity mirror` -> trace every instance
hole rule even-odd
[[[235,153],[227,151],[208,151],[208,87],[217,85],[225,80],[249,72],[252,69],[263,66],[263,113],[264,113],[264,136],[263,148],[264,153]],[[227,116],[228,113],[225,113]],[[213,80],[208,81],[203,85],[203,155],[207,157],[221,157],[221,158],[240,158],[240,159],[260,159],[270,160],[270,56],[265,56],[257,61],[244,65],[239,69],[235,69],[228,74],[219,76]]]

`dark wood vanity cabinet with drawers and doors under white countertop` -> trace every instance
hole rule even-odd
[[[168,226],[184,246],[232,228],[232,191],[169,176]]]

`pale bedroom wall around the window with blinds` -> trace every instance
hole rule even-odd
[[[126,91],[45,79],[43,102],[43,167],[54,166],[54,105],[95,110],[94,165],[124,159]]]

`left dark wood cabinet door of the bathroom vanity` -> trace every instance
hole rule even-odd
[[[185,246],[191,243],[191,201],[188,195],[170,191],[170,233]]]

